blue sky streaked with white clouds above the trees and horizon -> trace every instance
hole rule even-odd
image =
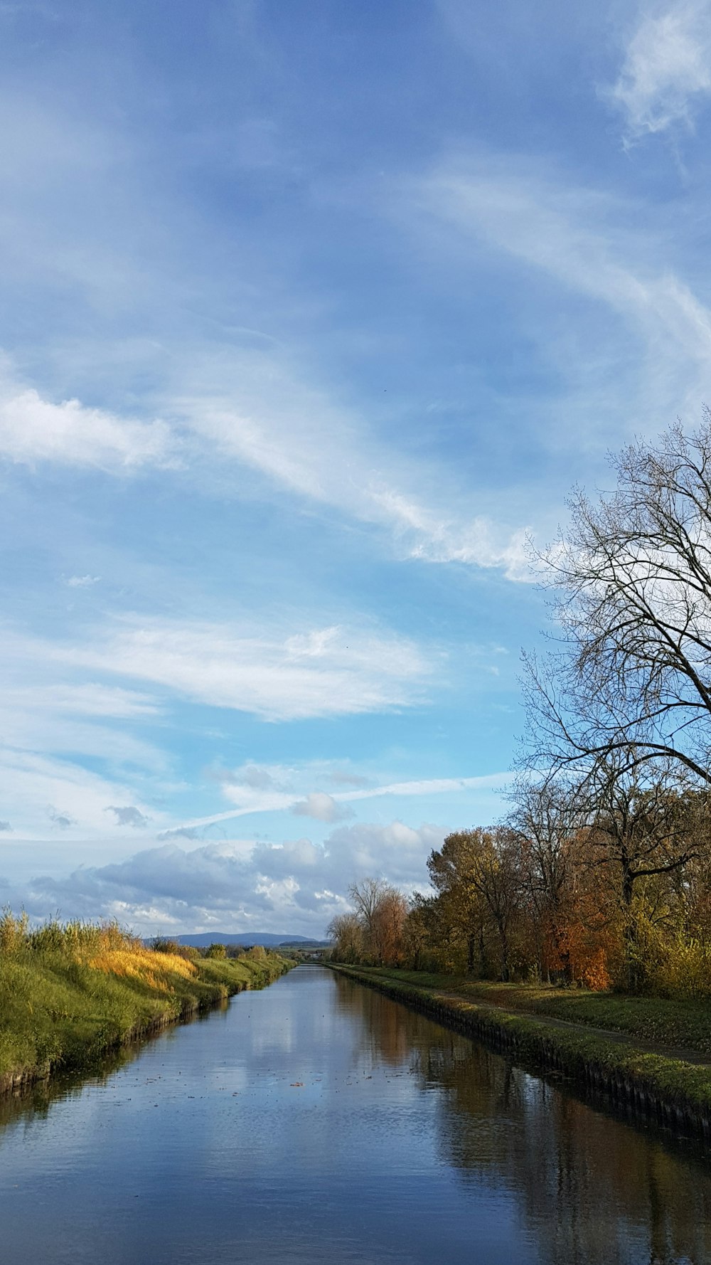
[[[323,936],[506,812],[710,125],[711,0],[0,3],[0,906]]]

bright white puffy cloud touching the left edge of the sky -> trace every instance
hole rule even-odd
[[[33,388],[0,388],[0,455],[27,466],[54,462],[121,473],[176,462],[177,444],[164,421],[133,421],[78,400],[52,404]],[[95,583],[73,577],[70,584]]]

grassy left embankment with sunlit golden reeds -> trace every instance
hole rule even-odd
[[[0,1093],[186,1018],[294,963],[157,953],[116,927],[0,918]]]

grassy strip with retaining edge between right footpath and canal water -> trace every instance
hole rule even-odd
[[[550,1016],[533,1017],[402,979],[397,970],[342,964],[330,968],[528,1066],[569,1077],[641,1118],[711,1142],[711,1063],[697,1051],[671,1056],[649,1042],[634,1044],[629,1034],[601,1032]]]

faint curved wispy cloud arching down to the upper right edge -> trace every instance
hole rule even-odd
[[[459,258],[476,256],[482,243],[495,245],[621,320],[638,393],[630,400],[628,385],[614,407],[619,411],[624,401],[629,424],[657,430],[677,411],[697,414],[711,387],[711,312],[664,263],[660,235],[640,224],[630,231],[634,207],[541,177],[528,159],[511,158],[452,159],[410,194],[420,214],[454,230],[449,249]],[[583,318],[577,319],[581,336],[588,335]],[[593,339],[605,333],[600,321],[592,325]],[[600,383],[600,352],[588,347],[583,354]],[[576,372],[574,366],[563,368]],[[606,441],[600,424],[596,434]]]

